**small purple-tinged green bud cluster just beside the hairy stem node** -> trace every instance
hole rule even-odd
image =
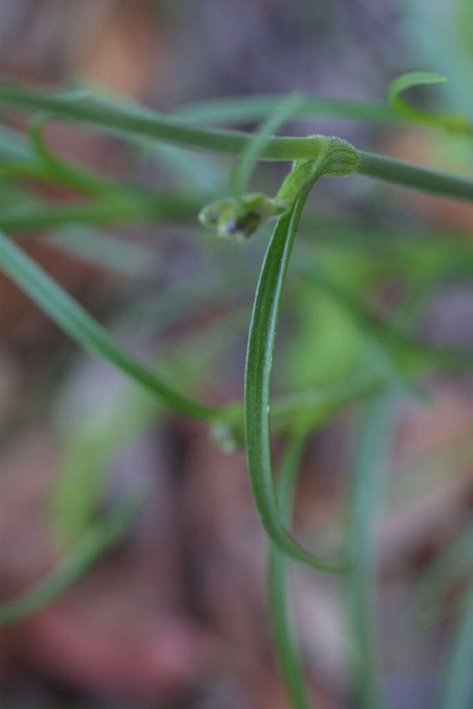
[[[201,209],[199,221],[215,229],[218,236],[244,241],[267,220],[281,216],[289,203],[270,199],[265,194],[246,194],[241,199],[218,199]]]

